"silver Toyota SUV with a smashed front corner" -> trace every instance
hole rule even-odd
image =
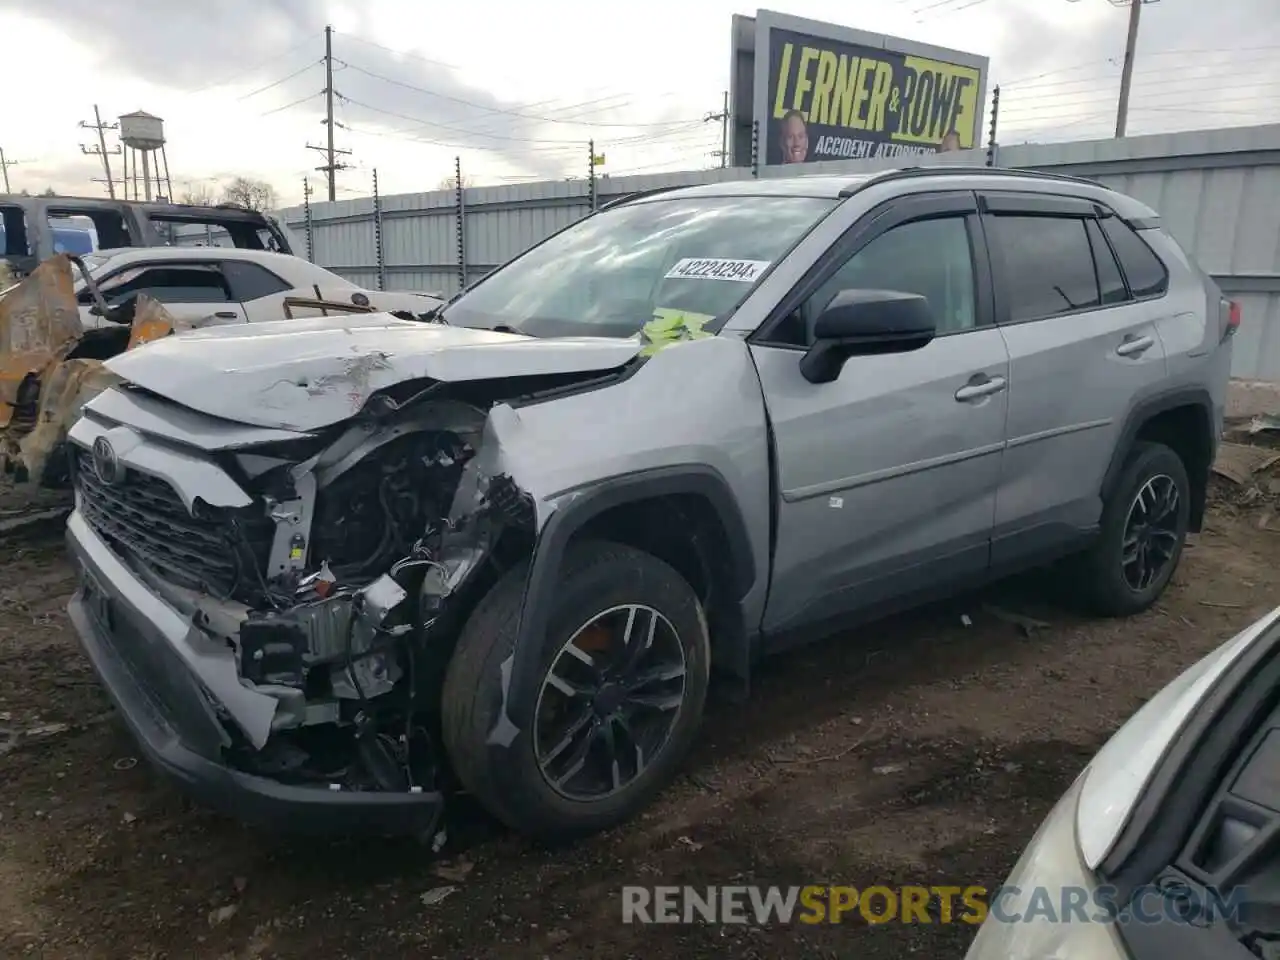
[[[151,759],[287,828],[562,838],[713,672],[1065,561],[1149,605],[1234,305],[1142,204],[909,169],[640,195],[447,303],[174,335],[70,439],[70,613]]]

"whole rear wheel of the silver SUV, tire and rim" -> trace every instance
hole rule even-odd
[[[1181,458],[1161,443],[1135,444],[1103,506],[1098,540],[1080,559],[1089,608],[1128,616],[1155,603],[1178,568],[1189,522]]]

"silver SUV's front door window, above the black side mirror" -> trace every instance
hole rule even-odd
[[[973,251],[964,218],[914,220],[882,233],[809,297],[801,308],[804,329],[813,329],[840,291],[860,288],[925,297],[940,334],[972,329],[977,323]],[[803,342],[809,342],[808,334]]]

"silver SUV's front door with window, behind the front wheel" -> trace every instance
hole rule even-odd
[[[814,320],[841,289],[928,298],[937,337],[800,374]],[[767,634],[896,605],[986,576],[1009,353],[995,326],[972,193],[892,201],[842,237],[753,338],[777,454]]]

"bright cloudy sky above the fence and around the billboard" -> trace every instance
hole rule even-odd
[[[769,9],[991,58],[1001,141],[1106,137],[1128,10],[1111,0],[773,0]],[[96,196],[81,151],[104,120],[164,118],[174,189],[266,179],[285,204],[323,156],[324,27],[334,28],[338,197],[467,179],[716,165],[735,0],[0,0],[13,189]],[[23,78],[27,79],[23,83]],[[1130,133],[1280,122],[1280,0],[1143,8]],[[109,137],[114,134],[109,133]],[[109,148],[114,146],[108,141]],[[119,157],[116,163],[119,175]],[[323,197],[319,197],[323,198]]]

